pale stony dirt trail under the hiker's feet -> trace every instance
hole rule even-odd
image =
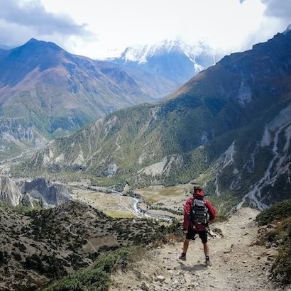
[[[277,252],[252,245],[257,214],[256,209],[242,208],[229,221],[212,225],[223,234],[209,238],[212,266],[204,265],[199,238],[190,243],[186,261],[178,259],[182,243],[169,243],[151,251],[133,270],[114,275],[110,291],[280,290],[268,279]]]

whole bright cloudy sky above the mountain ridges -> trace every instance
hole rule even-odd
[[[165,39],[243,51],[291,23],[291,0],[0,0],[0,7],[0,45],[35,38],[99,60]]]

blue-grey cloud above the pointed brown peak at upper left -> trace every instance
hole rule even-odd
[[[0,0],[0,6],[1,44],[18,45],[32,37],[45,40],[60,40],[72,35],[92,37],[85,23],[77,24],[66,13],[46,11],[40,0]]]

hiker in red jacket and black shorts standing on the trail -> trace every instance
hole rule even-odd
[[[194,211],[193,211],[194,210]],[[195,214],[194,214],[195,212]],[[196,217],[195,217],[196,216]],[[211,265],[209,260],[209,243],[207,240],[208,222],[214,221],[216,212],[209,200],[204,199],[202,187],[193,187],[193,197],[187,200],[184,207],[183,231],[186,234],[180,260],[186,260],[190,240],[198,234],[203,243],[205,265]]]

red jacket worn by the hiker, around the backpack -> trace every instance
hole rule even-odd
[[[197,224],[194,225],[192,222],[190,221],[190,209],[191,209],[191,204],[193,202],[193,198],[194,199],[204,199],[204,193],[202,190],[195,190],[193,197],[188,199],[187,202],[185,203],[184,206],[184,223],[183,223],[183,230],[187,231],[187,229],[189,227],[193,228],[194,230],[197,231],[204,231],[205,230],[205,226],[201,225],[201,224]],[[212,206],[212,204],[209,202],[209,200],[204,199],[205,205],[208,209],[208,214],[209,214],[209,219],[208,221],[214,221],[215,217],[216,217],[216,211],[214,209],[214,207]]]

